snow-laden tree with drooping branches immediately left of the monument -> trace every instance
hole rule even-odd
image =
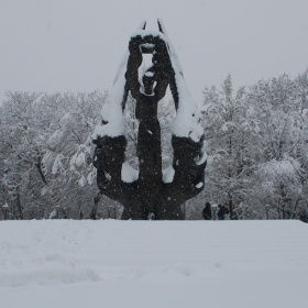
[[[50,196],[61,218],[89,217],[94,207],[98,191],[90,135],[105,98],[97,92],[62,97],[62,118],[46,141],[42,161],[48,176],[43,194]]]

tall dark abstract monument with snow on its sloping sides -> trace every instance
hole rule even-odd
[[[94,165],[97,185],[108,198],[123,207],[122,219],[184,219],[180,205],[198,195],[205,186],[206,153],[200,113],[184,80],[177,54],[158,20],[157,32],[143,22],[132,34],[116,76],[101,123],[95,130]],[[152,54],[152,66],[139,78],[142,54]],[[173,165],[163,180],[161,127],[157,106],[169,86],[176,118],[173,124]],[[136,100],[139,120],[139,173],[125,162],[123,111],[129,92]],[[123,178],[123,172],[131,175]],[[166,173],[167,176],[166,176]]]

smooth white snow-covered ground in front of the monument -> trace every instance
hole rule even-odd
[[[307,307],[299,221],[1,221],[1,308]]]

